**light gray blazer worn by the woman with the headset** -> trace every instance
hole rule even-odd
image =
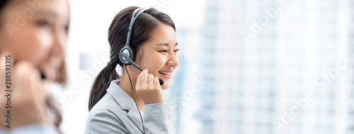
[[[142,119],[134,100],[113,80],[107,93],[89,112],[85,133],[143,133]],[[147,104],[144,108],[145,132],[173,133],[173,107]]]

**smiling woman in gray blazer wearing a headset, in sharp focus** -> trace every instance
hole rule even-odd
[[[128,34],[131,22],[134,26]],[[169,87],[171,73],[178,66],[171,18],[155,8],[125,8],[113,19],[108,42],[110,62],[93,83],[85,133],[173,133],[173,107],[164,104],[161,91]],[[120,60],[126,43],[132,49],[127,55],[144,71]],[[118,65],[122,76],[115,71]]]

